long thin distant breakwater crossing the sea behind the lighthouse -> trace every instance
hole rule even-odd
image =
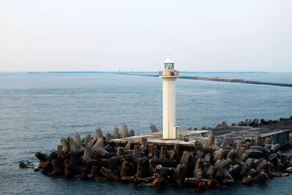
[[[144,76],[144,77],[159,77],[159,75],[144,75],[144,74],[130,74],[130,73],[119,73],[120,75],[133,75],[133,76]],[[209,81],[219,81],[219,82],[237,82],[237,83],[248,83],[248,84],[258,84],[258,85],[274,85],[282,87],[292,87],[289,83],[276,83],[276,82],[261,82],[253,80],[243,80],[234,78],[219,78],[219,77],[185,77],[180,76],[182,79],[193,79],[193,80],[209,80]]]

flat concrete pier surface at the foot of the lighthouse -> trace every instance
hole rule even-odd
[[[185,132],[186,135],[189,136],[188,142],[184,141],[184,137],[180,139],[162,139],[162,131],[159,131],[140,136],[111,139],[110,145],[114,147],[125,146],[128,141],[141,144],[141,138],[147,137],[149,143],[153,143],[155,145],[166,145],[169,149],[173,148],[177,143],[180,143],[185,147],[194,147],[197,140],[200,141],[203,146],[205,146],[208,136],[212,133],[214,136],[216,136],[216,140],[219,140],[221,143],[223,143],[224,137],[232,137],[235,141],[239,139],[250,141],[252,137],[256,139],[256,137],[260,135],[263,141],[265,141],[266,138],[272,138],[274,143],[280,145],[286,143],[292,144],[292,120],[257,127],[219,126],[204,130],[179,130],[179,134],[182,134],[182,136],[185,136]]]

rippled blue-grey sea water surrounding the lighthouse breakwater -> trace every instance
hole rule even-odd
[[[266,78],[282,78],[280,73]],[[202,75],[200,75],[202,76]],[[220,74],[212,76],[222,77]],[[240,74],[245,77],[245,74]],[[229,77],[230,78],[230,77]],[[286,78],[292,78],[287,73]],[[289,80],[289,79],[287,79]],[[292,115],[292,88],[177,79],[177,125],[180,129],[214,127],[222,121],[279,119]],[[38,165],[35,152],[50,153],[61,137],[94,135],[125,123],[135,134],[162,129],[161,78],[115,74],[0,73],[0,194],[193,194],[192,188],[154,188],[120,182],[81,181],[19,169]],[[286,151],[288,154],[292,150]],[[235,184],[200,192],[213,194],[290,194],[290,177],[264,184]]]

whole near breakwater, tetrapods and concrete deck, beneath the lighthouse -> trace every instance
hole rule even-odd
[[[61,145],[49,156],[37,152],[40,163],[36,171],[52,176],[78,175],[84,180],[186,185],[198,190],[288,176],[292,173],[292,155],[280,150],[291,143],[292,116],[258,122],[247,119],[239,122],[239,126],[222,122],[215,128],[185,130],[186,137],[176,140],[153,138],[159,133],[155,125],[150,127],[152,133],[144,136],[134,136],[127,125],[122,125],[121,133],[115,127],[112,134],[105,136],[101,129],[96,129],[93,137],[86,134],[81,139],[76,134],[61,138]],[[244,129],[250,134],[246,135]],[[233,133],[237,136],[229,136]],[[194,137],[201,140],[192,142]],[[27,168],[24,163],[19,166]],[[284,173],[275,174],[273,170]]]

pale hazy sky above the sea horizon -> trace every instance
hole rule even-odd
[[[0,71],[292,72],[291,0],[1,0]]]

